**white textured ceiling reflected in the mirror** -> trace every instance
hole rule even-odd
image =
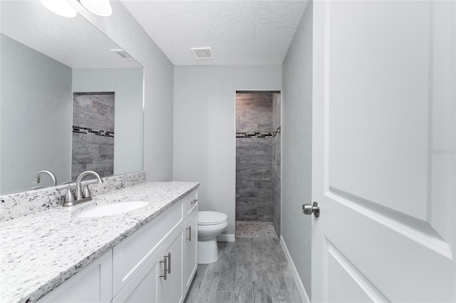
[[[140,66],[110,51],[118,46],[78,15],[65,18],[39,1],[0,1],[0,31],[71,68]]]

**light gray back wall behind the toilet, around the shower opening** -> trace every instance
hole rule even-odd
[[[234,235],[236,90],[281,90],[281,65],[175,66],[174,179],[199,181],[199,209]]]

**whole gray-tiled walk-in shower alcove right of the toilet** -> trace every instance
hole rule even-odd
[[[272,223],[280,235],[280,108],[280,92],[236,92],[237,229]]]

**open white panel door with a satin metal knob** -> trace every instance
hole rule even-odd
[[[314,1],[313,302],[455,302],[455,1]]]

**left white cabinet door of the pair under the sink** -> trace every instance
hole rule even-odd
[[[113,303],[160,302],[158,280],[160,280],[160,275],[163,273],[160,269],[160,261],[162,260],[161,251],[152,255],[141,270],[113,299]]]

